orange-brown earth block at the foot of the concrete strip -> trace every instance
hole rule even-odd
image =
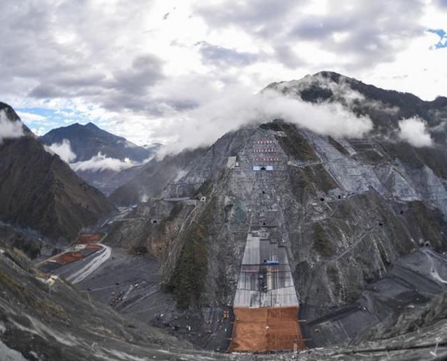
[[[298,323],[298,307],[235,307],[234,313],[229,351],[293,351],[295,341],[298,349],[306,347]]]

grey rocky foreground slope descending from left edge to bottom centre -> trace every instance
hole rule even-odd
[[[124,318],[0,246],[1,360],[166,360],[178,348],[186,360],[200,357],[187,342]]]

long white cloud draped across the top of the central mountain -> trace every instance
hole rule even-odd
[[[356,116],[338,103],[312,104],[273,90],[251,95],[242,89],[228,89],[187,116],[182,113],[165,123],[166,136],[173,141],[161,149],[160,155],[210,145],[226,132],[274,118],[335,137],[362,137],[372,130],[369,117]]]

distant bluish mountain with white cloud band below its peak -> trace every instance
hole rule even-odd
[[[122,184],[117,181],[120,178],[112,181],[120,171],[149,160],[159,149],[159,144],[145,148],[137,146],[123,137],[98,128],[94,123],[75,123],[56,128],[40,140],[50,148],[65,144],[72,152],[69,162],[78,176],[105,194]]]

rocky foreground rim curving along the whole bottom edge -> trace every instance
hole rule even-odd
[[[36,272],[20,252],[1,243],[0,300],[0,355],[6,361],[441,360],[447,353],[445,294],[403,317],[399,335],[298,355],[199,351],[95,302],[64,279]]]

